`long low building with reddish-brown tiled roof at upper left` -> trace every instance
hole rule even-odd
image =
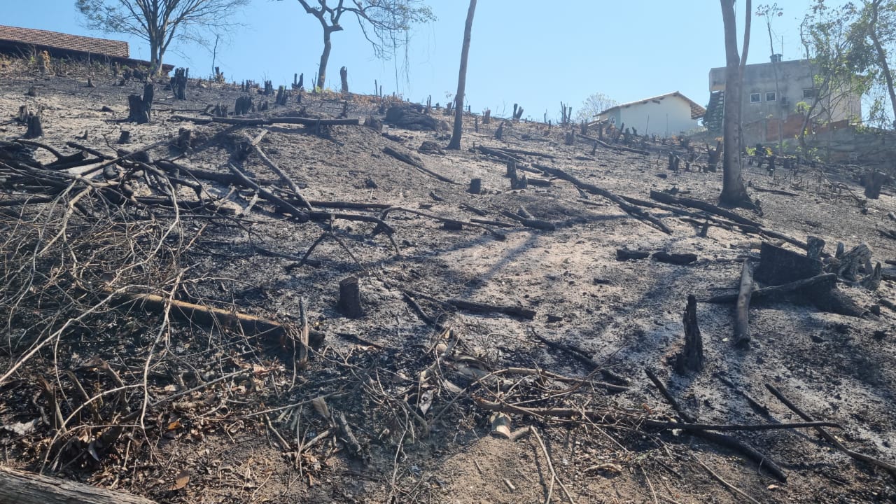
[[[33,51],[47,51],[53,57],[70,57],[125,66],[150,65],[148,61],[132,59],[127,42],[122,40],[96,39],[58,31],[0,25],[0,53],[23,56]],[[162,65],[163,74],[168,74],[173,69],[174,65]]]

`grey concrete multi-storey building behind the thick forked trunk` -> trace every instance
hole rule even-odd
[[[806,59],[781,61],[771,56],[769,63],[745,65],[744,88],[740,96],[744,140],[752,143],[778,143],[799,135],[805,115],[800,102],[812,105],[818,90],[817,68]],[[857,93],[835,91],[819,99],[807,126],[843,124],[862,117],[862,97]],[[725,67],[710,70],[710,105],[704,126],[721,132],[725,96]]]

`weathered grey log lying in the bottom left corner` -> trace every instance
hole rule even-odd
[[[79,482],[0,467],[0,502],[17,504],[155,504],[125,493]]]

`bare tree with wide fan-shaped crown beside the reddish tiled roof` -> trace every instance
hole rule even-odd
[[[234,26],[227,18],[250,0],[75,0],[91,30],[128,33],[150,44],[150,63],[159,71],[174,40],[205,43],[206,30]]]

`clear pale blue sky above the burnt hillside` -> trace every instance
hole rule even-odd
[[[103,35],[83,27],[74,0],[0,0],[0,24],[123,39],[132,57],[149,58],[141,39]],[[352,91],[372,92],[374,80],[384,92],[398,91],[410,100],[444,103],[457,88],[466,0],[430,0],[438,21],[418,26],[409,48],[409,82],[396,82],[395,62],[375,58],[356,22],[333,34],[328,87],[339,84],[339,68],[349,68]],[[743,4],[737,3],[739,28]],[[758,4],[754,2],[754,10]],[[783,41],[785,59],[800,56],[799,22],[810,0],[782,0],[783,15],[772,21],[776,51]],[[296,72],[310,83],[323,47],[321,28],[296,0],[252,0],[236,21],[238,28],[218,65],[229,79],[271,79],[291,83]],[[754,16],[749,63],[771,54],[765,18]],[[190,67],[191,75],[211,74],[211,51],[181,46],[166,63]],[[573,106],[593,92],[619,102],[682,91],[705,104],[708,74],[725,64],[721,11],[715,0],[479,0],[470,46],[468,103],[474,111],[492,109],[509,115],[513,103],[525,116],[556,119],[560,101]],[[399,60],[401,65],[401,58]]]

